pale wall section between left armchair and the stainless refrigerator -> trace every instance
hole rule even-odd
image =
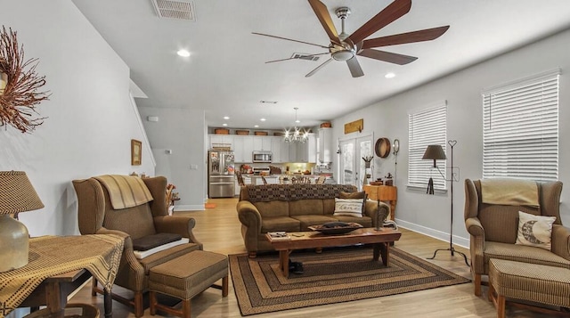
[[[203,210],[208,197],[204,187],[207,182],[203,147],[208,138],[204,110],[139,107],[139,111],[157,161],[156,174],[166,176],[180,194],[175,210]],[[149,116],[156,116],[159,121],[148,121]],[[172,154],[167,154],[167,150]]]

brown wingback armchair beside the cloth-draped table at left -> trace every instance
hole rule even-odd
[[[105,177],[107,183],[103,179]],[[79,232],[83,235],[116,234],[125,239],[115,284],[132,290],[134,299],[117,294],[112,294],[111,297],[127,306],[134,306],[135,316],[142,316],[142,295],[147,291],[151,267],[192,250],[202,249],[202,245],[192,234],[194,219],[168,216],[165,204],[167,178],[164,176],[140,179],[129,175],[102,175],[86,180],[74,180],[73,186],[77,192]],[[125,202],[126,207],[123,207]],[[117,206],[119,207],[115,208]],[[135,257],[134,240],[166,232],[179,234],[189,239],[189,242],[160,250],[141,259]],[[102,293],[102,289],[98,288],[97,282],[94,281],[93,295],[96,295],[96,292]]]

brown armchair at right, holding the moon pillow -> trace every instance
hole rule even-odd
[[[471,273],[476,296],[481,295],[481,276],[489,273],[491,258],[570,268],[570,229],[562,225],[559,214],[562,183],[530,183],[537,192],[534,194],[537,205],[533,206],[527,205],[528,202],[522,199],[525,191],[520,191],[529,185],[528,181],[493,180],[465,180],[465,226],[470,234]],[[482,183],[486,183],[483,190]],[[492,200],[484,199],[482,192],[499,202],[487,203]],[[556,216],[550,250],[516,244],[519,211],[535,216]]]

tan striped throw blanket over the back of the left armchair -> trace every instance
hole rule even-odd
[[[149,188],[138,176],[99,175],[94,178],[107,189],[110,204],[116,210],[133,208],[153,200]]]

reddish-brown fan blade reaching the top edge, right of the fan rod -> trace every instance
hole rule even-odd
[[[371,20],[364,23],[362,27],[354,31],[354,33],[350,35],[350,39],[354,43],[362,41],[372,33],[386,27],[407,12],[410,12],[410,8],[411,0],[395,0],[392,4],[384,8],[384,10],[376,14]]]

